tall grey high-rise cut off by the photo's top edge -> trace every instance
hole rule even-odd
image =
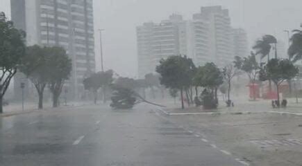
[[[61,46],[72,59],[69,93],[79,98],[83,78],[95,70],[92,0],[11,0],[12,21],[26,32],[26,45]],[[15,78],[15,94],[19,80]]]

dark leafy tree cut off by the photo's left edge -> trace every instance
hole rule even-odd
[[[2,13],[0,18],[0,113],[3,113],[3,96],[8,89],[10,80],[17,73],[25,55],[25,33],[17,30],[12,21],[8,21]]]

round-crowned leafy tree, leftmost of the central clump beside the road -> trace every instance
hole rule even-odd
[[[156,72],[160,73],[160,84],[169,89],[178,89],[181,91],[181,107],[185,108],[183,103],[183,90],[192,85],[192,70],[195,68],[192,59],[181,56],[171,56],[167,59],[161,59],[160,64],[156,66]],[[187,98],[189,100],[189,98]]]

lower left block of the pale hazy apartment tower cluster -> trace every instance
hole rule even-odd
[[[180,45],[186,44],[185,29],[181,28],[185,28],[181,15],[171,15],[160,24],[150,22],[137,27],[139,77],[154,72],[160,59],[181,55]]]

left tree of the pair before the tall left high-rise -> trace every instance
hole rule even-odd
[[[35,85],[39,96],[38,109],[43,109],[43,93],[49,80],[47,49],[37,45],[26,48],[26,56],[22,59],[20,68]]]

